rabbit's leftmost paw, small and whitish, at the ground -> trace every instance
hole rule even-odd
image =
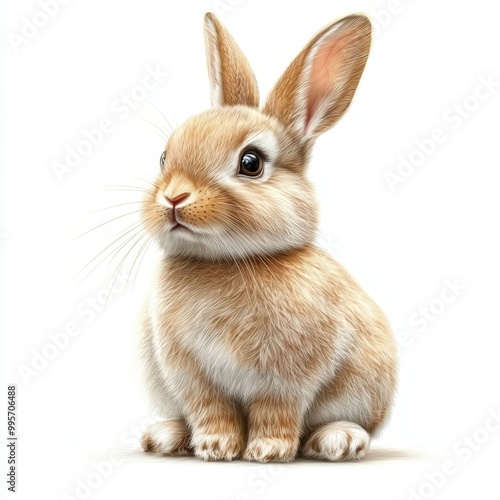
[[[148,427],[141,439],[142,449],[161,455],[187,455],[189,430],[182,418],[171,418]]]

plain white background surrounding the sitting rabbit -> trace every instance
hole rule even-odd
[[[73,0],[31,32],[24,18],[43,23],[42,2],[8,3],[1,15],[0,434],[6,386],[14,383],[18,498],[496,498],[500,423],[489,415],[500,411],[497,2]],[[364,462],[207,464],[134,451],[150,417],[134,368],[134,321],[155,252],[139,273],[135,266],[134,286],[132,279],[91,313],[88,301],[102,309],[98,301],[131,245],[111,264],[93,270],[97,259],[76,275],[137,215],[75,238],[135,210],[92,213],[142,195],[105,186],[147,188],[137,177],[156,175],[164,141],[148,121],[168,128],[161,113],[175,126],[208,107],[207,10],[225,11],[263,96],[323,25],[356,11],[377,24],[353,106],[318,140],[310,170],[320,244],[380,303],[400,343],[392,421]],[[23,27],[31,36],[25,43],[16,38]],[[145,95],[137,85],[157,66],[168,76]],[[481,79],[496,86],[488,93]],[[119,101],[131,92],[145,99],[124,109]],[[54,163],[103,119],[113,130],[58,177]],[[441,143],[432,145],[437,128]],[[415,152],[416,141],[427,144],[428,156]],[[420,164],[391,189],[387,172],[399,175],[401,157]],[[445,292],[444,303],[450,283],[458,289]],[[434,311],[429,319],[421,307]],[[79,334],[54,348],[50,335],[72,325]],[[97,473],[92,463],[109,462],[112,452],[121,462]],[[443,467],[446,476],[436,472]]]

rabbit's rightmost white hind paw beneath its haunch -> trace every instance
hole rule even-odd
[[[359,460],[370,447],[370,435],[353,422],[332,422],[316,429],[302,450],[307,457],[338,462]]]

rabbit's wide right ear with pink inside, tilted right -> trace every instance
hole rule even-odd
[[[367,17],[352,15],[318,33],[285,71],[264,113],[311,139],[345,113],[358,86],[371,44]]]

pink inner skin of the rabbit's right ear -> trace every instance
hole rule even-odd
[[[304,133],[307,132],[311,122],[314,122],[321,104],[325,101],[334,103],[341,95],[341,88],[349,75],[348,48],[350,47],[355,32],[349,30],[342,35],[331,33],[329,37],[320,42],[319,47],[311,61],[311,70],[307,90],[307,112]]]

